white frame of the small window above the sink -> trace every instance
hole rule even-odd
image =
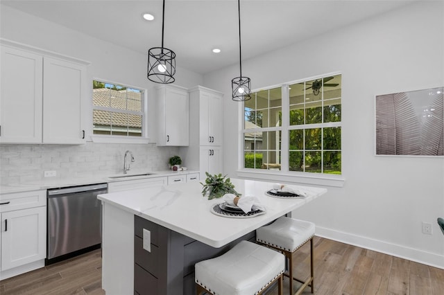
[[[101,79],[101,78],[93,78],[92,81],[99,81],[99,82],[119,85],[119,86],[123,86],[123,87],[128,87],[131,89],[138,89],[138,90],[143,91],[143,97],[142,97],[142,136],[94,134],[93,121],[92,121],[94,109],[98,109],[98,110],[102,110],[102,111],[112,111],[112,112],[115,112],[116,109],[113,109],[111,107],[94,106],[93,102],[92,102],[92,92],[91,92],[91,98],[89,99],[89,105],[91,107],[91,111],[90,111],[90,115],[89,115],[89,118],[90,118],[89,125],[91,128],[91,140],[94,143],[141,143],[141,144],[149,143],[150,138],[148,138],[148,90],[144,87],[138,87],[138,86],[134,86],[134,85],[126,84],[126,83],[121,83],[121,82],[114,82],[114,81]],[[92,84],[92,81],[91,81],[91,84]],[[140,112],[138,112],[138,111],[131,111],[131,110],[124,110],[124,111],[122,111],[122,113],[135,114],[135,115],[140,114]]]

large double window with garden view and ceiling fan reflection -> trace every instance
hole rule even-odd
[[[252,93],[243,137],[244,168],[340,175],[341,74]]]

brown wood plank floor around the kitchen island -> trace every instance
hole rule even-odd
[[[443,269],[324,238],[315,237],[314,246],[315,294],[443,294]],[[309,274],[309,244],[298,250],[294,259],[295,276],[305,279]],[[100,250],[1,280],[0,294],[105,294],[101,289]],[[269,294],[277,294],[277,289]],[[284,294],[289,294],[287,279]],[[310,288],[303,294],[310,294]]]

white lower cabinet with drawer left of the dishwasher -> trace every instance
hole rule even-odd
[[[46,190],[0,195],[2,279],[44,266]]]

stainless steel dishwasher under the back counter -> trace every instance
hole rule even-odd
[[[101,202],[108,184],[48,190],[46,265],[101,246]]]

